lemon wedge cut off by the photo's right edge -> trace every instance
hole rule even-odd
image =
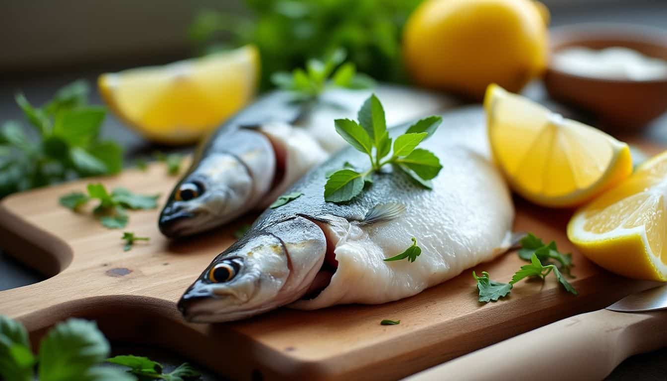
[[[630,278],[667,281],[667,151],[582,208],[568,238],[596,264]]]

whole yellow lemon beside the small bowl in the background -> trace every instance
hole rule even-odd
[[[548,59],[549,14],[532,0],[426,0],[404,31],[420,85],[481,100],[490,83],[518,92]]]

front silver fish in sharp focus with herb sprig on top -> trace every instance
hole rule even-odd
[[[370,165],[352,147],[310,171],[289,189],[303,196],[266,210],[205,268],[179,300],[183,316],[225,322],[285,305],[309,310],[390,302],[505,252],[514,208],[489,159],[482,109],[443,115],[420,147],[436,153],[443,166],[431,190],[402,171],[387,170],[348,204],[325,202],[327,172],[346,161],[360,169]],[[384,261],[412,238],[422,248],[415,262]]]

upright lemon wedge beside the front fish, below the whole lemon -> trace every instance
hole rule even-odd
[[[498,85],[488,87],[484,108],[494,159],[536,204],[578,206],[632,172],[626,143]]]

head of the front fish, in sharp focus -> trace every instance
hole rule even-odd
[[[296,230],[303,226],[305,230]],[[205,268],[177,304],[186,320],[239,320],[294,302],[307,292],[327,250],[323,233],[309,221],[273,228],[285,236],[251,230]]]

